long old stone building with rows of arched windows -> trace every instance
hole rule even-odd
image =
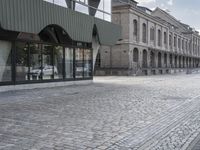
[[[200,66],[199,33],[164,10],[113,0],[112,14],[112,22],[122,26],[122,39],[101,48],[98,75],[164,74]]]

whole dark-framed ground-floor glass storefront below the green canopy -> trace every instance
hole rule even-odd
[[[92,50],[61,45],[0,41],[0,83],[92,78]],[[12,54],[13,65],[12,66]],[[15,69],[12,69],[15,68]]]

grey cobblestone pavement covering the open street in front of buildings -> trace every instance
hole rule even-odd
[[[199,133],[199,74],[0,93],[0,150],[186,150]]]

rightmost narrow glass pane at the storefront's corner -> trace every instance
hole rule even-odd
[[[84,77],[92,76],[92,51],[89,49],[84,50]]]

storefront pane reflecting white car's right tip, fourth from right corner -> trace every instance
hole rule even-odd
[[[63,47],[55,46],[54,48],[54,79],[63,78]]]

